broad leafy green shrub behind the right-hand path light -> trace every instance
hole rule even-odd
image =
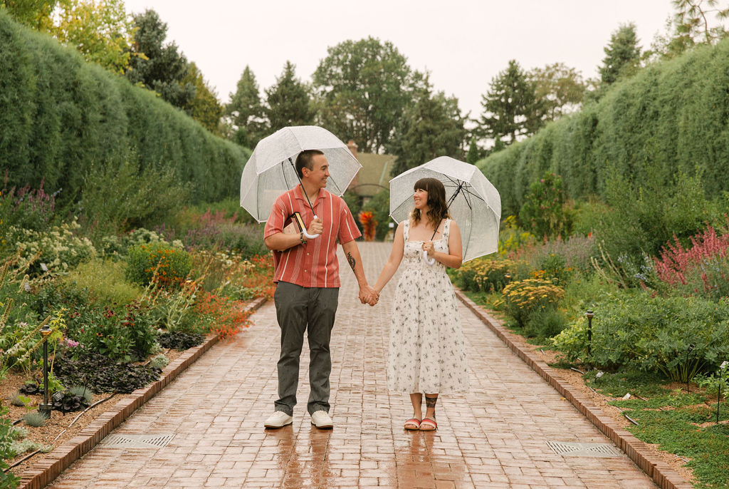
[[[681,382],[729,358],[726,300],[618,293],[599,301],[594,312],[590,355],[584,317],[555,337],[555,348],[601,369],[660,372]]]

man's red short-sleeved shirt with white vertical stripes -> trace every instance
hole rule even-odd
[[[273,265],[276,272],[273,274],[273,281],[289,282],[301,287],[339,287],[337,241],[344,244],[362,234],[341,197],[321,188],[316,201],[311,204],[324,225],[324,231],[321,236],[309,239],[306,244],[297,244],[284,251],[274,251]],[[292,222],[294,212],[300,213],[306,226],[313,220],[301,185],[296,185],[293,190],[276,199],[266,221],[264,239],[282,232]]]

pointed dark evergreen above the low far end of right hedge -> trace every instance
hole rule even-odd
[[[542,107],[537,101],[534,84],[519,63],[509,66],[491,80],[486,95],[481,96],[481,133],[491,139],[496,136],[507,144],[518,136],[534,134],[541,125]]]

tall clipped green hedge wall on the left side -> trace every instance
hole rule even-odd
[[[92,163],[131,158],[174,168],[193,182],[194,201],[215,201],[238,194],[249,155],[0,9],[0,170],[9,186],[44,179],[68,202]]]

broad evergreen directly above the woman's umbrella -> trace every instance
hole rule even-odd
[[[386,147],[397,155],[392,167],[394,174],[421,165],[438,156],[463,158],[465,118],[461,116],[458,99],[443,92],[432,94],[427,86],[417,94],[415,104],[406,109],[396,135]]]

